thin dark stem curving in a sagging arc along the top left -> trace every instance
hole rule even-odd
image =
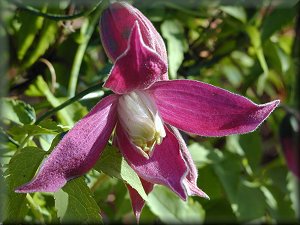
[[[83,11],[83,12],[73,14],[73,15],[58,15],[58,14],[52,14],[52,13],[44,13],[44,12],[34,8],[34,7],[23,5],[22,3],[18,2],[18,1],[10,1],[10,3],[13,3],[14,5],[16,5],[22,11],[29,12],[29,13],[34,14],[36,16],[45,17],[45,18],[50,19],[50,20],[60,21],[60,20],[73,20],[73,19],[76,19],[78,17],[89,15],[98,8],[98,6],[102,3],[102,1],[99,1],[94,7],[92,7],[88,11]]]

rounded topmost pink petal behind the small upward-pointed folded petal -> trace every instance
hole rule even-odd
[[[100,37],[107,56],[115,62],[123,54],[136,21],[140,25],[145,45],[160,55],[167,64],[167,51],[162,37],[138,9],[126,2],[115,2],[102,13],[99,24]]]

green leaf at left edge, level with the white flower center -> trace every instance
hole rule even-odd
[[[21,100],[10,98],[0,99],[0,119],[8,119],[18,124],[34,123],[36,116],[31,105]]]

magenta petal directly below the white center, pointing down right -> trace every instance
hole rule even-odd
[[[118,147],[139,177],[150,183],[165,185],[185,200],[187,196],[182,181],[187,167],[176,137],[167,128],[166,134],[162,143],[155,146],[152,156],[147,159],[138,153],[139,150],[130,142],[119,124],[116,128]]]

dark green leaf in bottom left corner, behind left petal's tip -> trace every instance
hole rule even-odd
[[[36,173],[46,152],[36,147],[26,147],[13,156],[5,171],[8,184],[5,221],[7,223],[22,222],[26,213],[26,194],[17,194],[15,188],[30,181]]]

